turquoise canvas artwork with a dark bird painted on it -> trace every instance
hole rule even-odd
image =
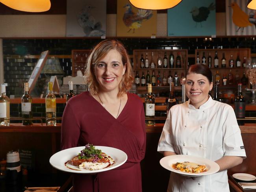
[[[167,35],[216,35],[215,6],[215,0],[182,0],[167,10]]]

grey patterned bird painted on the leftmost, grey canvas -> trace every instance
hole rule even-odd
[[[91,14],[91,9],[94,8],[95,7],[90,4],[85,5],[77,14],[78,24],[83,28],[83,32],[88,37],[104,36],[106,31],[102,30],[101,22],[96,22],[95,18]]]

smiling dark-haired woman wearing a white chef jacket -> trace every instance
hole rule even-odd
[[[158,151],[168,155],[194,155],[215,161],[219,172],[200,177],[171,173],[169,192],[228,192],[227,169],[246,157],[241,131],[233,108],[212,100],[211,70],[192,65],[186,76],[189,100],[169,111],[158,143]]]

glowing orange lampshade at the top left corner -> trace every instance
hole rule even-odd
[[[12,9],[27,12],[48,11],[51,7],[50,0],[0,0],[0,2]]]

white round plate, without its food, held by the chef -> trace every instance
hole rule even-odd
[[[206,172],[202,172],[202,173],[186,173],[186,172],[181,172],[180,170],[176,170],[172,167],[172,165],[176,162],[184,162],[184,161],[189,161],[189,162],[195,162],[201,165],[205,165],[207,171]],[[175,172],[177,174],[182,174],[182,175],[189,175],[190,177],[198,177],[198,176],[202,176],[202,175],[210,175],[210,174],[214,174],[216,172],[219,171],[219,165],[214,162],[211,161],[210,159],[205,159],[202,157],[196,157],[193,155],[170,155],[170,156],[166,156],[163,157],[160,160],[160,164],[163,168],[171,171],[171,172]]]

